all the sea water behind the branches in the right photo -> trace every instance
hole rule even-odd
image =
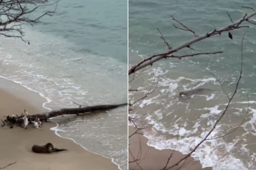
[[[167,52],[156,28],[171,47],[191,40],[192,33],[177,30],[171,15],[194,30],[197,35],[213,31],[230,23],[227,12],[233,20],[238,20],[256,8],[255,1],[129,1],[129,64],[133,65],[154,54]],[[252,18],[256,21],[256,17]],[[246,23],[248,25],[248,23]],[[249,24],[250,25],[250,24]],[[178,25],[177,25],[178,26]],[[218,79],[229,95],[233,93],[240,72],[241,38],[245,31],[243,77],[238,93],[217,126],[212,137],[225,134],[237,127],[247,111],[247,96],[250,108],[245,123],[226,138],[209,140],[197,149],[192,156],[199,160],[203,167],[219,169],[256,169],[255,156],[255,101],[256,101],[256,26],[248,29],[231,31],[233,40],[228,33],[209,38],[181,50],[178,54],[195,52],[217,52],[218,55],[202,55],[182,60],[161,60],[152,68],[147,67],[140,79],[130,83],[132,89],[139,88],[138,93],[130,98],[138,98],[150,88],[152,81],[157,81],[157,89],[143,100],[135,115],[143,116],[138,123],[145,127],[145,136],[151,139],[150,145],[157,149],[174,149],[176,139],[180,137],[176,150],[187,154],[209,132],[212,125],[224,110],[228,99],[223,93]],[[155,78],[153,78],[155,76]],[[132,77],[130,77],[132,78]],[[181,99],[180,91],[193,88],[209,88],[214,91]],[[167,158],[166,158],[167,159]]]

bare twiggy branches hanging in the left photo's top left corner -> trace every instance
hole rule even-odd
[[[43,16],[52,16],[56,13],[58,1],[54,3],[49,3],[48,0],[0,1],[0,35],[4,37],[20,38],[23,42],[28,42],[23,39],[25,32],[23,31],[22,25],[28,23],[34,26],[35,23],[40,22],[39,20]],[[56,8],[53,11],[47,11],[35,19],[30,18],[30,13],[33,13],[38,8],[51,6],[53,4],[56,4]]]

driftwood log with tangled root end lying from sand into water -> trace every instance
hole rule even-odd
[[[78,108],[62,108],[59,110],[47,111],[46,113],[40,113],[35,115],[28,115],[26,110],[24,110],[24,114],[21,113],[20,116],[18,115],[5,116],[5,119],[1,120],[3,123],[3,125],[1,126],[2,127],[8,126],[9,128],[13,128],[13,126],[16,125],[17,127],[27,128],[28,124],[34,123],[35,128],[40,128],[40,126],[42,126],[43,121],[47,122],[49,118],[53,118],[55,116],[79,115],[81,113],[88,113],[88,112],[94,112],[94,111],[106,111],[106,110],[118,108],[119,106],[127,106],[127,105],[128,103],[122,103],[119,105],[95,105],[95,106],[78,105],[79,106]]]

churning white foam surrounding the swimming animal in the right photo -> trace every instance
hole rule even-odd
[[[152,72],[156,71],[155,69]],[[213,77],[202,77],[200,79],[178,77],[171,79],[167,74],[168,72],[164,70],[161,71],[161,76],[157,77],[156,91],[159,93],[156,92],[150,95],[143,100],[140,105],[144,109],[143,111],[148,113],[147,116],[145,116],[145,120],[147,121],[147,126],[150,125],[149,127],[151,127],[150,130],[148,130],[148,128],[147,131],[145,130],[144,136],[149,139],[148,145],[156,149],[174,149],[176,139],[180,137],[181,139],[178,141],[176,150],[183,154],[188,154],[189,150],[195,147],[205,134],[209,132],[210,127],[213,127],[217,118],[219,118],[224,110],[222,106],[226,106],[228,103],[218,102],[220,97],[226,98],[223,93],[218,92],[214,92],[210,95],[197,95],[197,99],[210,101],[209,104],[203,108],[200,108],[199,103],[197,106],[195,104],[196,100],[193,100],[193,98],[178,99],[177,91],[200,88],[201,86],[209,86],[209,84],[212,87],[218,86],[217,88],[219,88],[219,82]],[[149,75],[152,76],[152,73]],[[152,79],[148,82],[148,86],[150,86],[151,82]],[[161,109],[158,108],[160,103],[163,106]],[[243,120],[245,114],[244,108],[247,103],[248,101],[231,102],[229,110],[232,110],[233,114],[229,113],[225,115],[225,117],[228,116],[231,118],[231,123],[226,124],[226,126],[222,125],[222,123],[217,125],[208,139],[219,137],[225,133],[225,130],[232,130],[238,126],[239,123],[232,123],[232,120]],[[249,103],[253,104],[255,101],[249,101]],[[147,110],[145,106],[149,106],[150,110]],[[154,110],[154,106],[157,109]],[[192,109],[192,106],[195,108]],[[179,111],[175,111],[176,109]],[[200,161],[203,167],[212,167],[214,170],[236,170],[237,168],[247,170],[249,166],[249,169],[253,169],[255,164],[253,164],[253,161],[250,161],[250,159],[253,160],[253,158],[250,157],[253,153],[247,148],[248,145],[244,143],[244,141],[246,141],[245,136],[249,134],[256,135],[256,109],[250,107],[249,110],[248,118],[251,120],[243,124],[242,127],[245,129],[245,133],[239,135],[239,137],[242,135],[243,139],[235,138],[232,142],[228,142],[225,138],[207,140],[192,154],[192,157]],[[188,117],[186,114],[193,117],[191,114],[195,114],[195,112],[202,112],[195,115],[199,117],[198,119],[185,119]],[[164,118],[162,118],[162,116],[164,116]],[[198,133],[200,133],[199,136]],[[241,159],[240,154],[237,154],[238,152],[246,154],[246,156]]]

